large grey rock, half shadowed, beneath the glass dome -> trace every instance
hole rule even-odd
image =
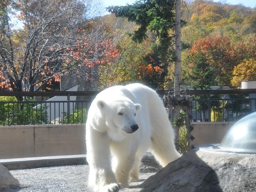
[[[169,163],[140,191],[256,191],[256,155],[191,150]]]

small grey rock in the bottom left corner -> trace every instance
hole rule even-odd
[[[15,179],[9,170],[0,164],[0,191],[6,188],[17,188],[19,187],[19,182]]]

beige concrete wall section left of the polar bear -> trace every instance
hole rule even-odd
[[[0,159],[86,154],[81,124],[0,126]]]

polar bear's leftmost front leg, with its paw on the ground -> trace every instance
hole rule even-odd
[[[95,192],[116,192],[120,185],[111,167],[109,137],[90,128],[86,132],[89,187]]]

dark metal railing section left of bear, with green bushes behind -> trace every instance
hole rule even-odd
[[[0,125],[85,123],[97,93],[0,92]],[[8,96],[7,101],[3,96]],[[26,101],[16,99],[24,97]]]

